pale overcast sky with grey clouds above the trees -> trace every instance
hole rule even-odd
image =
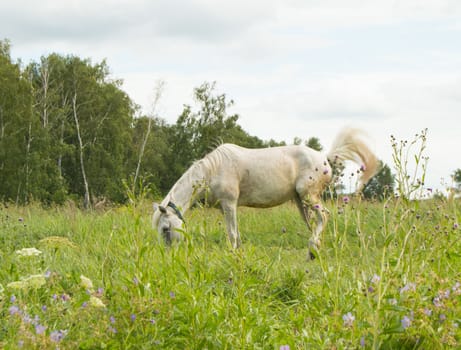
[[[394,169],[391,135],[427,128],[425,186],[443,191],[461,168],[459,0],[2,1],[0,39],[23,64],[105,59],[145,113],[163,81],[155,112],[168,123],[215,81],[263,140],[317,137],[328,149],[358,127]]]

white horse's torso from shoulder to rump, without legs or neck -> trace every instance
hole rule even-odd
[[[214,192],[217,197],[237,196],[239,205],[282,204],[296,195],[300,179],[322,173],[320,165],[327,164],[324,155],[305,146],[251,149],[224,144],[219,148],[223,161],[213,180]]]

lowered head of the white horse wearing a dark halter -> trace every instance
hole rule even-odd
[[[168,203],[166,207],[154,203],[152,227],[157,229],[168,245],[182,238],[180,231],[183,224],[184,219],[181,212],[173,203]]]

